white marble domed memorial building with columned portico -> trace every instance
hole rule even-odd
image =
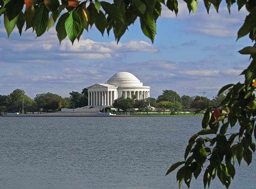
[[[124,95],[125,98],[145,99],[150,97],[150,87],[129,72],[118,72],[106,83],[96,83],[88,88],[88,106],[111,106],[115,99]]]

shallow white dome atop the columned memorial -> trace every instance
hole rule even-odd
[[[143,86],[143,83],[137,77],[124,71],[113,75],[107,83],[117,86]]]

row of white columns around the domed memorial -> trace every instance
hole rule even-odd
[[[149,91],[89,91],[88,92],[88,106],[110,106],[114,100],[124,95],[124,98],[132,98],[133,95],[137,99],[146,99],[150,97]]]

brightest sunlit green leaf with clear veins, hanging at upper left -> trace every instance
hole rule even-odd
[[[71,11],[69,17],[65,21],[66,33],[72,44],[81,32],[81,20],[76,11]]]

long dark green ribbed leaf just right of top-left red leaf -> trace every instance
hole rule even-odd
[[[49,10],[42,2],[36,10],[36,17],[34,20],[34,26],[36,29],[37,37],[41,36],[47,29],[49,22]]]

